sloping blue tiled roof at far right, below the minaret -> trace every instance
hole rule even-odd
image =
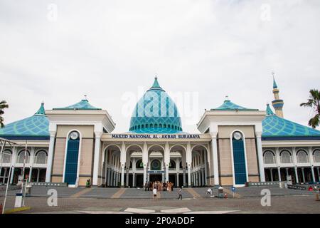
[[[299,123],[294,123],[274,115],[270,105],[267,105],[267,115],[262,121],[262,138],[294,138],[294,139],[316,139],[320,137],[320,131],[308,128]]]

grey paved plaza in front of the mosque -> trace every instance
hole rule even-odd
[[[262,207],[261,190],[269,189],[271,206]],[[131,214],[131,213],[320,213],[320,202],[316,192],[307,190],[287,190],[278,186],[242,187],[233,197],[230,187],[225,187],[228,199],[210,197],[206,187],[183,189],[183,199],[178,200],[178,189],[173,192],[159,192],[152,199],[151,192],[144,189],[121,188],[68,188],[54,187],[58,192],[58,206],[48,206],[48,190],[53,187],[33,187],[31,196],[26,197],[30,210],[18,213],[84,213],[84,214]],[[7,207],[14,207],[16,192],[9,191]],[[213,189],[213,195],[217,195]],[[0,192],[0,202],[4,192]]]

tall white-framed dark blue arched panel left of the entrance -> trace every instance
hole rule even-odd
[[[70,138],[70,134],[77,132],[78,138]],[[68,185],[78,185],[82,134],[78,129],[72,129],[67,134],[65,142],[65,162],[63,166],[63,182]]]

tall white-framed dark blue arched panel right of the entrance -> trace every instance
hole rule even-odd
[[[235,138],[235,133],[241,137]],[[247,152],[245,147],[245,134],[241,130],[233,130],[230,134],[231,157],[233,165],[233,185],[245,185],[248,180]]]

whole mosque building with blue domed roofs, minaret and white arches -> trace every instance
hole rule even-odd
[[[86,98],[52,110],[42,103],[34,115],[0,129],[1,138],[18,143],[1,148],[0,183],[16,184],[25,159],[29,182],[69,187],[88,179],[99,187],[155,180],[183,187],[319,182],[320,131],[285,119],[275,81],[273,93],[274,111],[226,99],[203,113],[196,134],[183,132],[178,108],[157,78],[135,106],[127,133],[112,133],[107,110]]]

